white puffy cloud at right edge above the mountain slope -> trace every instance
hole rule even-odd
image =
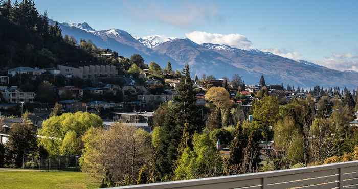
[[[318,63],[332,69],[341,71],[354,70],[358,72],[358,55],[353,55],[351,53],[333,53],[332,56],[326,57],[323,61],[318,61]]]

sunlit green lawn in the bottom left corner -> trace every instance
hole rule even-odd
[[[98,188],[82,172],[0,171],[0,188]]]

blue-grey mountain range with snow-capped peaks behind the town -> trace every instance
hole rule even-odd
[[[53,21],[50,21],[52,23]],[[91,40],[104,49],[130,57],[140,54],[146,62],[154,61],[165,67],[170,61],[173,69],[188,63],[192,75],[214,75],[216,78],[239,74],[245,83],[255,84],[264,75],[269,84],[291,84],[303,88],[314,85],[340,86],[349,89],[358,86],[358,72],[339,71],[305,60],[292,60],[257,49],[238,49],[228,45],[197,44],[188,38],[153,35],[133,37],[124,30],[95,30],[88,23],[59,23],[63,35],[77,40]]]

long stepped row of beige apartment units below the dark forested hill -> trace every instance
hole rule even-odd
[[[67,66],[57,65],[57,69],[66,77],[79,78],[97,78],[97,77],[114,77],[117,75],[116,66],[114,65],[87,65],[87,66]]]

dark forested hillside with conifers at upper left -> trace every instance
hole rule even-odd
[[[0,1],[0,67],[53,67],[58,63],[98,62],[98,50],[90,41],[63,38],[58,23],[49,25],[47,13],[40,15],[32,0]],[[110,51],[110,50],[105,50]],[[116,55],[118,55],[116,53]]]

